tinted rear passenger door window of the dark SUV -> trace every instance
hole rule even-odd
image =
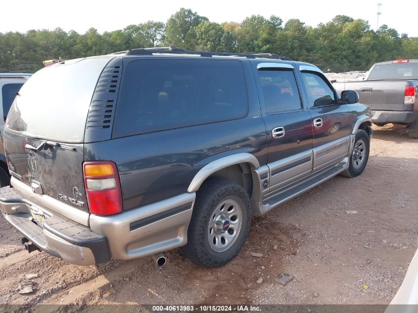
[[[302,108],[293,71],[259,70],[266,113]]]

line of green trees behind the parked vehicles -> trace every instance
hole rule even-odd
[[[418,59],[418,38],[368,21],[337,15],[317,27],[280,17],[252,15],[242,22],[209,21],[182,8],[166,23],[148,21],[123,30],[99,34],[90,28],[76,31],[29,30],[0,33],[0,72],[35,72],[42,61],[108,54],[132,48],[178,46],[188,50],[277,53],[314,63],[324,71],[368,70],[373,63],[399,58]]]

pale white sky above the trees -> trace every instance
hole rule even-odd
[[[376,29],[378,2],[382,3],[379,25],[387,24],[399,34],[418,37],[415,21],[417,0],[2,0],[0,33],[26,32],[30,29],[52,30],[56,27],[79,33],[94,27],[103,33],[148,20],[165,22],[181,7],[190,8],[218,23],[240,22],[253,14],[267,18],[274,14],[284,23],[288,19],[298,18],[307,25],[316,26],[340,14],[368,20],[371,28]]]

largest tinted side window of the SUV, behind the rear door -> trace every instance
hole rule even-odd
[[[136,60],[123,75],[114,137],[238,119],[247,113],[238,60]]]

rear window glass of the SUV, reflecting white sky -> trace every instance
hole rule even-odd
[[[39,70],[13,101],[6,129],[28,137],[83,142],[93,92],[108,61],[75,59]]]

